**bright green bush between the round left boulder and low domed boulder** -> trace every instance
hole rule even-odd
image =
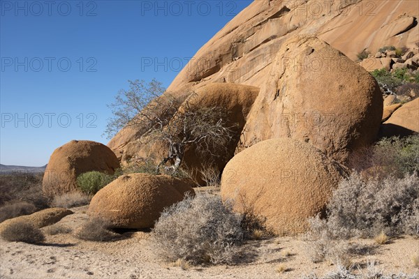
[[[77,183],[83,193],[96,194],[98,190],[108,185],[115,176],[103,172],[84,172],[77,178]]]

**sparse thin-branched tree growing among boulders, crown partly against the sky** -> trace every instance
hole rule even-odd
[[[216,156],[212,151],[226,149],[232,140],[236,125],[228,123],[228,112],[223,107],[194,105],[193,93],[186,100],[168,92],[161,96],[165,89],[156,80],[129,83],[130,89],[119,91],[110,105],[114,117],[106,133],[112,136],[121,128],[134,127],[142,137],[166,144],[168,153],[157,172],[161,167],[166,172],[177,172],[188,148]]]

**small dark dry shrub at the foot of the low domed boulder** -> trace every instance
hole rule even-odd
[[[112,241],[120,237],[110,230],[112,225],[101,218],[87,220],[75,233],[78,239],[87,241]]]

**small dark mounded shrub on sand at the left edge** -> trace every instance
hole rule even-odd
[[[6,226],[1,232],[1,237],[6,241],[21,241],[25,243],[40,243],[45,240],[41,229],[34,224],[17,221]]]

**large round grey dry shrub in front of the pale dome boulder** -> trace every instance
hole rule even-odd
[[[231,204],[219,196],[187,196],[161,213],[152,232],[152,246],[169,262],[230,262],[243,238],[240,220]]]

